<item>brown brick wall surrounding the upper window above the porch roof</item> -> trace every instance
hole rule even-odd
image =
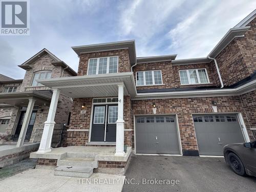
[[[80,54],[77,75],[87,75],[88,61],[90,58],[108,57],[108,56],[118,56],[118,73],[131,72],[131,63],[130,63],[128,49],[122,49],[122,50],[114,50],[114,51],[103,51],[103,52]]]

